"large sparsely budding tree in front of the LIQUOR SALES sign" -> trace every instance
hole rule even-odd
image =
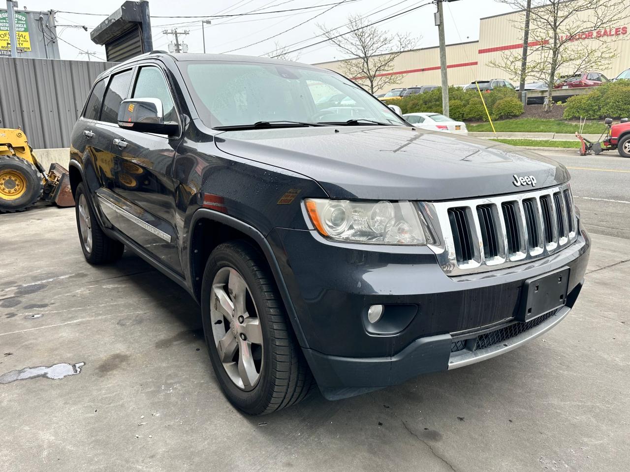
[[[496,0],[522,10],[512,23],[525,33],[525,13],[529,11],[529,48],[525,76],[547,84],[545,110],[551,108],[551,90],[559,71],[575,74],[605,69],[617,56],[612,43],[624,38],[628,18],[626,0]],[[627,31],[627,30],[626,30]],[[521,76],[523,56],[505,51],[489,65]]]

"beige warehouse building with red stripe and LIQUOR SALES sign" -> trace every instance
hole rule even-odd
[[[630,14],[630,0],[626,1],[627,11]],[[516,77],[509,77],[505,71],[490,65],[490,62],[500,61],[505,53],[520,53],[523,42],[522,31],[515,26],[515,21],[522,22],[523,17],[523,12],[515,11],[481,18],[478,41],[447,45],[449,84],[462,85],[474,80],[486,79],[507,79],[516,84],[518,82]],[[604,38],[604,40],[610,38],[612,40],[610,45],[617,50],[617,57],[610,67],[600,68],[597,72],[602,72],[611,79],[630,68],[630,18],[626,18],[621,24],[607,25],[607,28],[589,31],[578,40],[596,42],[597,38]],[[341,72],[341,62],[343,61],[336,60],[316,65]],[[560,74],[572,72],[573,70],[568,69],[559,70]],[[438,47],[403,52],[396,58],[394,68],[391,72],[387,72],[387,75],[401,76],[401,82],[396,87],[440,84]],[[390,89],[392,86],[386,88]]]

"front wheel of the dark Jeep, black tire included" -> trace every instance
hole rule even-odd
[[[234,274],[245,284],[243,298],[238,296],[241,285]],[[232,277],[236,282],[232,283]],[[227,306],[227,310],[222,310],[222,306]],[[231,306],[234,306],[233,322],[224,315]],[[239,317],[241,311],[246,317]],[[240,410],[250,415],[272,413],[300,402],[314,386],[266,261],[249,242],[227,242],[210,254],[203,273],[202,319],[210,361],[219,385],[232,405]],[[251,329],[256,325],[260,334]],[[223,332],[228,341],[218,343]],[[249,339],[243,339],[245,334],[250,335]],[[260,345],[257,344],[259,335]],[[221,354],[218,344],[227,346]],[[246,356],[241,356],[241,349]],[[226,364],[220,356],[227,359]],[[241,362],[249,369],[244,367],[241,371]],[[246,373],[249,381],[243,381],[241,372]]]

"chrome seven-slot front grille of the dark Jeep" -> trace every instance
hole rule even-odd
[[[443,242],[430,245],[448,275],[549,256],[577,237],[568,184],[489,198],[422,203]]]

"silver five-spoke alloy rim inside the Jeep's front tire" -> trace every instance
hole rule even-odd
[[[253,390],[263,366],[263,333],[249,287],[232,267],[222,267],[214,276],[210,322],[227,375],[241,390]]]

